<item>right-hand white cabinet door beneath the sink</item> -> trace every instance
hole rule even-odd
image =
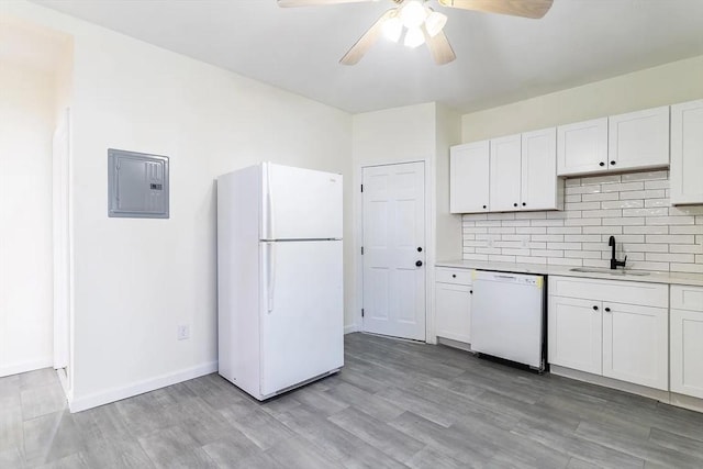
[[[603,376],[667,391],[666,308],[603,303]]]

